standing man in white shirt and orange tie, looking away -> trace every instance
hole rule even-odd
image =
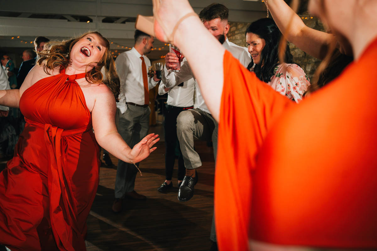
[[[145,56],[154,43],[150,35],[135,31],[135,45],[121,53],[115,60],[116,72],[120,78],[119,102],[116,103],[118,115],[118,131],[124,141],[133,148],[148,133],[149,129],[149,89],[155,87],[159,79],[147,75],[150,61]],[[138,166],[139,163],[136,163]],[[146,199],[146,196],[135,192],[137,169],[133,164],[118,162],[115,178],[114,212],[122,210],[122,199]]]

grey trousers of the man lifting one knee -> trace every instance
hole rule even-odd
[[[202,165],[199,154],[194,150],[194,136],[199,140],[212,140],[213,157],[217,154],[217,137],[219,124],[211,116],[198,108],[182,111],[177,117],[177,136],[183,160],[187,169]],[[213,214],[210,240],[216,241],[215,214]]]

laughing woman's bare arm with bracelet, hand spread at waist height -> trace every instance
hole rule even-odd
[[[147,135],[131,149],[116,129],[115,112],[113,94],[106,85],[101,85],[92,110],[93,129],[98,144],[124,162],[137,163],[144,160],[155,151],[156,148],[152,146],[159,140],[158,135]]]

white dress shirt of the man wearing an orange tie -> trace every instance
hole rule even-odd
[[[132,47],[131,50],[121,53],[115,60],[116,72],[120,78],[119,102],[116,103],[116,107],[121,113],[127,110],[126,102],[144,105],[144,82],[140,57],[140,53]],[[150,61],[145,55],[143,58],[148,72]],[[153,77],[149,78],[149,89],[155,87],[157,83]]]

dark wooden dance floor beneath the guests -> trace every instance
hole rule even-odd
[[[160,133],[162,126],[150,128]],[[213,181],[215,161],[213,149],[204,141],[195,141],[203,166],[199,167],[199,180],[192,199],[178,201],[176,171],[173,172],[173,189],[160,193],[157,188],[165,180],[165,146],[163,135],[157,149],[140,163],[143,176],[136,176],[135,191],[147,196],[145,201],[125,199],[123,211],[113,213],[116,163],[113,168],[102,166],[100,185],[92,210],[87,219],[88,251],[124,250],[209,250],[211,221],[213,214]],[[0,170],[5,161],[0,163]]]

